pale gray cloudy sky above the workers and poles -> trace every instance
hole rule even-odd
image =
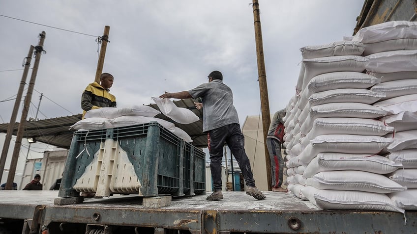
[[[103,72],[115,77],[111,93],[118,106],[150,104],[151,97],[194,88],[219,70],[234,92],[240,123],[260,113],[251,0],[107,2],[1,2],[0,123],[10,121],[23,59],[30,45],[38,44],[42,31],[46,53],[41,56],[28,118],[35,117],[41,93],[39,119],[81,113],[80,97],[94,81],[96,38],[103,35],[104,26],[110,26],[110,43]],[[285,107],[295,94],[299,49],[351,36],[363,2],[259,0],[271,112]]]

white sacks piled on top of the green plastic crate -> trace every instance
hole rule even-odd
[[[96,130],[158,122],[162,127],[170,130],[185,142],[192,142],[191,137],[184,130],[176,127],[174,123],[155,117],[160,113],[161,112],[159,110],[147,105],[91,109],[86,112],[85,119],[78,121],[72,125],[70,129]]]

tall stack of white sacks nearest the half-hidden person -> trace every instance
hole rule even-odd
[[[344,50],[335,44],[301,48],[297,92],[285,118],[289,190],[323,209],[404,212],[387,196],[406,187],[384,176],[401,163],[380,155],[394,130],[378,120],[387,111],[372,105],[386,96],[370,90],[381,78],[363,73],[368,58],[361,42],[345,41]]]

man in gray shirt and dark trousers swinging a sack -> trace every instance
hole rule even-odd
[[[238,161],[248,187],[246,194],[258,200],[264,199],[265,195],[255,186],[249,158],[244,149],[244,137],[239,126],[238,112],[233,105],[232,90],[223,83],[221,72],[213,71],[208,78],[208,83],[201,84],[191,90],[177,93],[165,92],[159,98],[202,99],[202,104],[195,104],[196,108],[203,108],[203,132],[207,132],[208,136],[210,170],[214,190],[207,200],[223,199],[221,161],[225,142]]]

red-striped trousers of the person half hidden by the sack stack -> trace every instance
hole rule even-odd
[[[272,188],[279,188],[282,185],[284,159],[281,155],[281,143],[274,138],[267,138],[269,159],[271,160]]]

